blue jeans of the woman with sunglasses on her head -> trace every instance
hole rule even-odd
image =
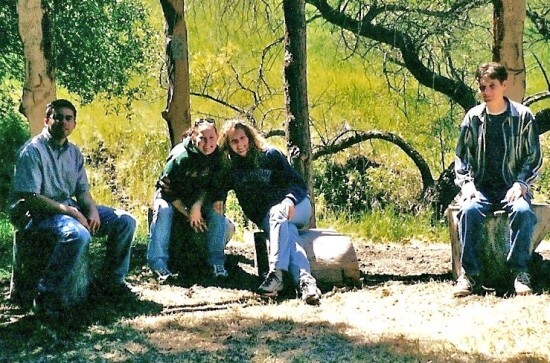
[[[147,246],[147,264],[152,270],[168,269],[168,249],[172,236],[172,220],[175,209],[168,201],[157,195],[153,202],[153,220],[150,226],[149,244]],[[228,224],[225,216],[210,208],[203,208],[203,216],[208,228],[208,263],[224,265],[225,244],[231,236],[228,235]]]

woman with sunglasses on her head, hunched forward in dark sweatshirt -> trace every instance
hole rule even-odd
[[[224,216],[223,205],[213,200],[217,194],[213,185],[223,162],[217,142],[214,120],[197,119],[183,141],[170,151],[156,183],[147,263],[160,283],[170,282],[177,275],[168,266],[175,217],[185,219],[193,231],[192,238],[206,241],[212,276],[228,277],[224,250],[231,238],[232,223]]]

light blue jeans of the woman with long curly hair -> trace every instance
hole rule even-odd
[[[264,217],[261,228],[269,234],[269,269],[289,271],[295,283],[304,274],[311,274],[309,260],[300,245],[298,229],[305,226],[311,217],[309,198],[295,206],[292,220],[288,220],[286,206],[276,204]]]

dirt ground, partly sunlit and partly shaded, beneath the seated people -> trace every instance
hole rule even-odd
[[[448,243],[354,242],[361,286],[324,291],[320,306],[254,294],[252,242],[228,246],[231,278],[191,269],[158,285],[135,266],[139,298],[104,303],[60,328],[0,299],[0,362],[547,362],[550,361],[550,242],[534,276],[536,294],[452,289]],[[137,246],[136,261],[145,248]]]

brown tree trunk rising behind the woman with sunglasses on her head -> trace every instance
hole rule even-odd
[[[164,13],[168,96],[162,117],[175,146],[191,124],[187,26],[183,0],[160,0]]]

